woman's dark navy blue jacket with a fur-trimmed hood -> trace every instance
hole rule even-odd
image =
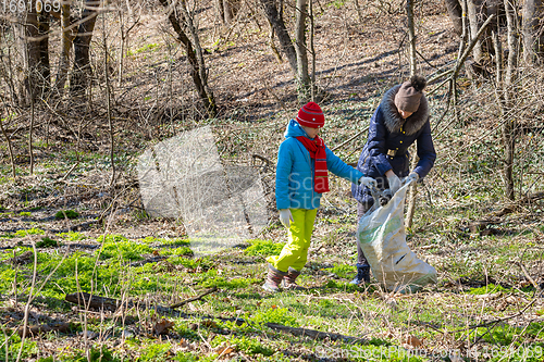
[[[399,88],[400,86],[395,86],[387,90],[372,115],[369,137],[357,163],[357,170],[375,178],[381,189],[388,188],[384,176],[388,170],[393,170],[398,177],[408,176],[410,161],[408,148],[415,141],[418,141],[419,162],[413,172],[417,172],[420,178],[426,176],[436,160],[425,97],[421,97],[418,111],[405,121],[395,105],[395,95]],[[395,155],[388,155],[388,151],[395,152]],[[353,185],[351,194],[361,203],[369,205],[373,203],[370,190],[366,187]]]

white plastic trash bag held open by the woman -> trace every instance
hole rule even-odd
[[[405,184],[385,205],[374,202],[360,219],[357,230],[374,277],[387,290],[401,294],[437,282],[436,270],[418,259],[406,244],[404,205],[410,184]],[[379,200],[379,191],[371,191]]]

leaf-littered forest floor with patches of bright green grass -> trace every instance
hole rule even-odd
[[[418,49],[426,60],[421,72],[431,76],[452,66],[458,40],[444,9],[428,8],[418,13]],[[408,68],[401,12],[363,10],[359,21],[351,3],[323,4],[316,27],[317,77],[327,95],[323,138],[333,149],[361,134],[335,151],[346,162],[357,161],[381,95]],[[207,24],[212,15],[201,16]],[[23,176],[16,180],[2,148],[0,360],[544,360],[543,203],[505,199],[496,171],[499,134],[490,133],[492,115],[477,112],[479,100],[461,97],[466,121],[450,122],[448,115],[438,127],[445,89],[429,97],[438,158],[420,187],[407,241],[437,270],[437,284],[408,295],[386,291],[374,278],[349,284],[356,201],[350,184],[332,177],[300,276],[307,289],[268,294],[261,288],[264,259],[286,241],[274,211],[273,164],[298,108],[288,65],[277,63],[268,35],[252,21],[215,47],[212,29],[206,29],[202,43],[213,50],[206,61],[221,118],[199,120],[183,111],[187,82],[174,84],[175,107],[154,102],[169,97],[156,80],[168,73],[161,57],[170,48],[163,34],[149,30],[153,17],[147,21],[131,35],[125,86],[116,90],[114,114],[128,121],[115,134],[114,187],[106,121],[86,128],[90,135],[81,148],[73,137],[38,133],[33,176],[24,176],[22,137],[15,153]],[[178,57],[175,74],[186,77]],[[459,83],[467,93],[482,86]],[[172,109],[175,116],[168,113]],[[270,215],[257,238],[195,257],[183,223],[144,210],[136,165],[158,140],[205,125],[230,162],[247,165],[251,154],[270,160],[261,173]],[[62,128],[61,122],[54,126]],[[540,185],[531,177],[523,185]],[[523,195],[529,191],[534,188],[523,188]],[[78,304],[74,294],[81,291],[110,299],[98,308]]]

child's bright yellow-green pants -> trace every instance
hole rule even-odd
[[[318,209],[290,209],[293,222],[288,229],[288,241],[280,255],[267,258],[274,269],[280,272],[287,272],[289,266],[296,271],[302,270],[308,260],[308,248],[317,213]]]

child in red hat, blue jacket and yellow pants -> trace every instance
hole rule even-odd
[[[321,194],[329,191],[327,171],[355,184],[370,187],[375,183],[326,148],[318,136],[324,123],[321,108],[309,102],[298,111],[296,121],[289,121],[286,139],[280,145],[275,197],[280,221],[288,229],[288,242],[280,255],[267,259],[270,264],[264,290],[277,291],[282,280],[286,289],[301,289],[295,280],[308,258]]]

